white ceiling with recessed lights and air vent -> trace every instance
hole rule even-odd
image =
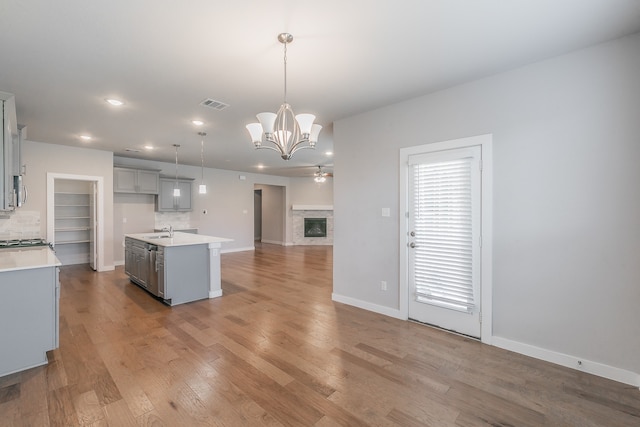
[[[638,0],[2,0],[0,90],[29,140],[200,165],[205,131],[206,166],[312,175],[335,120],[637,31]],[[281,32],[288,100],[324,127],[288,162],[245,129],[282,102]]]

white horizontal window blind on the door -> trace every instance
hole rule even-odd
[[[472,160],[413,165],[416,301],[469,313],[475,306]]]

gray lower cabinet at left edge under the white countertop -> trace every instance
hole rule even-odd
[[[0,272],[0,377],[47,363],[58,348],[58,267]]]

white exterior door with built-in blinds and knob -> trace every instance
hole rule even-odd
[[[410,319],[480,337],[481,148],[409,156]]]

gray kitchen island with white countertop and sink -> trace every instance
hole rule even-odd
[[[168,305],[222,296],[223,237],[174,232],[125,235],[125,273]]]

